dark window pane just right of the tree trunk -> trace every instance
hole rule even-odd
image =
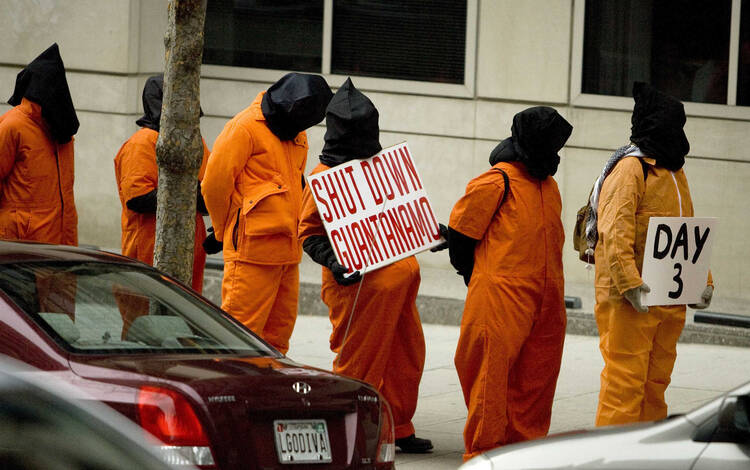
[[[321,71],[323,0],[210,0],[203,63]]]

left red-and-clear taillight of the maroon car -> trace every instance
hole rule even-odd
[[[215,465],[208,438],[193,407],[174,390],[145,385],[138,391],[141,427],[161,441],[159,451],[171,465]]]

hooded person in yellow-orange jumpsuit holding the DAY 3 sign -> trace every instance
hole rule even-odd
[[[667,416],[664,391],[677,357],[685,306],[645,307],[641,292],[643,252],[650,217],[692,217],[693,204],[682,166],[690,150],[682,103],[645,83],[633,87],[635,107],[628,145],[610,158],[595,185],[598,215],[596,323],[604,370],[597,425]],[[601,192],[597,193],[598,188]],[[711,277],[694,308],[706,308]]]

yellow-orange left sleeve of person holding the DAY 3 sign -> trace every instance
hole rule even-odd
[[[646,190],[637,158],[625,158],[604,180],[599,194],[598,231],[609,269],[620,294],[643,284],[635,264],[635,213]]]

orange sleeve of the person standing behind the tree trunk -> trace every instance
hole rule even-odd
[[[159,168],[156,166],[156,147],[135,134],[125,144],[120,160],[120,189],[123,201],[143,196],[156,189]]]

